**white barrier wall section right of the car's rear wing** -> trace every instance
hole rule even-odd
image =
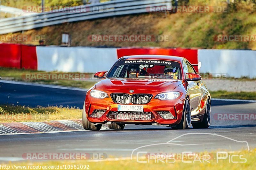
[[[200,73],[224,73],[230,77],[256,77],[256,51],[199,49]]]

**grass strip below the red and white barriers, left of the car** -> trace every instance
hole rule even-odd
[[[63,73],[63,72],[46,72],[37,70],[25,70],[25,69],[15,69],[15,68],[4,68],[0,67],[0,76],[2,80],[12,80],[12,81],[24,81],[39,84],[50,84],[50,85],[62,85],[69,87],[79,87],[89,89],[91,88],[97,80],[25,80],[24,75],[27,73]],[[23,75],[23,76],[22,76]],[[86,74],[88,77],[92,77],[92,73]]]

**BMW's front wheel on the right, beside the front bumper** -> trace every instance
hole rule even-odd
[[[191,125],[191,107],[190,107],[190,101],[188,97],[185,100],[183,113],[182,113],[182,119],[179,124],[176,126],[171,126],[172,129],[189,129]]]

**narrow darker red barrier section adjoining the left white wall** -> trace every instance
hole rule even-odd
[[[37,70],[36,46],[21,46],[21,68]]]

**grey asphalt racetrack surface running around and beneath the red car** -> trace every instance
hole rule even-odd
[[[62,105],[82,108],[86,93],[85,90],[75,88],[13,84],[2,80],[0,86],[0,104],[31,107]],[[237,151],[256,147],[255,120],[216,120],[213,118],[216,113],[256,113],[256,102],[212,100],[212,123],[208,129],[173,130],[165,126],[126,125],[122,131],[72,131],[0,136],[0,161],[24,160],[23,153],[83,152],[130,157],[134,149],[145,145],[149,146],[140,148],[140,151]],[[170,143],[166,144],[168,141]],[[135,150],[133,156],[136,151],[139,150]]]

